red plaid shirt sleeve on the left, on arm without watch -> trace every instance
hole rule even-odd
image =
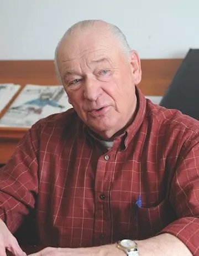
[[[38,138],[30,129],[13,156],[0,170],[0,218],[14,232],[31,209],[38,193]]]

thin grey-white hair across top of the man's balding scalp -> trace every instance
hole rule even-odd
[[[55,49],[55,70],[58,79],[61,81],[60,78],[60,71],[59,66],[57,65],[57,59],[59,57],[60,48],[63,44],[69,43],[69,40],[72,39],[75,40],[77,38],[82,38],[85,35],[93,35],[93,36],[107,36],[109,38],[112,38],[113,40],[117,41],[117,47],[119,50],[121,50],[122,53],[125,54],[127,59],[129,59],[129,53],[130,53],[130,47],[128,45],[127,39],[125,38],[125,35],[122,33],[122,31],[113,24],[101,21],[101,20],[85,20],[80,21],[72,25],[66,33],[61,38],[60,42],[57,44],[57,47]],[[81,40],[81,39],[80,39]],[[70,40],[71,42],[71,40]]]

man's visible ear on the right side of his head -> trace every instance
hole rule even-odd
[[[142,79],[142,69],[140,58],[135,50],[130,52],[130,64],[132,65],[132,72],[134,76],[135,85],[139,84]]]

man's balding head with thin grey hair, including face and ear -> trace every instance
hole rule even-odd
[[[103,21],[73,25],[57,45],[55,66],[78,116],[103,139],[132,119],[142,72],[117,27]]]

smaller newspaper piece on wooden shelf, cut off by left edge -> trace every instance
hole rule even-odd
[[[19,84],[0,84],[0,112],[21,88]]]

